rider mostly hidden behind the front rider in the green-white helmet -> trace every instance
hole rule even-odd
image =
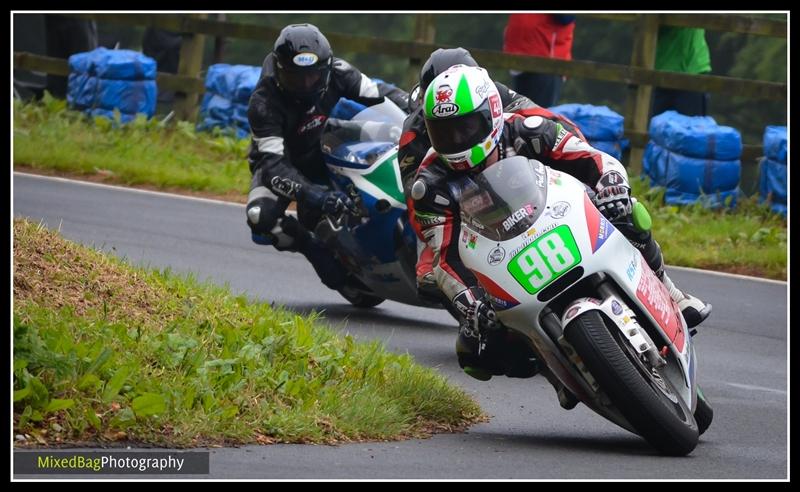
[[[431,53],[428,60],[422,66],[419,75],[419,84],[409,93],[409,107],[411,108],[411,112],[403,122],[403,132],[400,136],[397,161],[400,164],[400,175],[406,195],[409,219],[414,226],[416,226],[417,220],[415,220],[414,203],[410,194],[411,185],[416,177],[417,169],[422,159],[431,147],[428,130],[425,127],[424,107],[421,104],[422,97],[431,81],[453,65],[477,67],[478,63],[472,58],[470,52],[464,48],[439,48]],[[519,113],[524,116],[538,115],[543,118],[556,120],[561,122],[561,124],[572,133],[583,138],[577,125],[568,118],[537,105],[527,97],[514,92],[500,82],[495,82],[494,84],[506,113]],[[424,221],[426,219],[421,217],[419,220]],[[415,227],[415,230],[419,239],[424,241],[419,227]],[[420,252],[419,261],[417,262],[417,290],[420,297],[423,298],[434,299],[441,297],[440,290],[436,285],[436,280],[433,275],[433,253],[427,245],[425,245]]]

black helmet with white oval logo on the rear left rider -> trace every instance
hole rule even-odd
[[[275,40],[278,87],[298,101],[316,103],[331,77],[333,53],[325,36],[312,24],[291,24]]]

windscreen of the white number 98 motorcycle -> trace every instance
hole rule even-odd
[[[461,220],[493,241],[519,236],[547,203],[544,165],[522,156],[492,164],[478,175],[450,183]]]

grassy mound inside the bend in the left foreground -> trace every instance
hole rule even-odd
[[[156,446],[424,436],[482,420],[409,355],[14,224],[14,433]]]

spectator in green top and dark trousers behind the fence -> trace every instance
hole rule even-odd
[[[711,72],[711,55],[706,44],[705,29],[661,26],[656,45],[656,70],[705,74]],[[707,92],[656,87],[653,90],[652,115],[670,109],[687,116],[705,116]]]

